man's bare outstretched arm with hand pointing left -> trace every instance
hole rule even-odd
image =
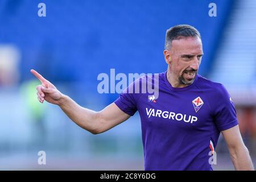
[[[126,121],[130,117],[130,115],[124,113],[114,103],[98,112],[81,107],[70,97],[65,96],[57,90],[51,82],[46,80],[38,72],[31,70],[31,73],[42,82],[42,85],[36,87],[38,90],[38,100],[41,103],[46,100],[49,103],[59,105],[73,122],[90,133],[102,133]]]

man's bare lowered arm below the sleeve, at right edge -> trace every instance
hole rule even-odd
[[[221,133],[228,144],[234,168],[236,170],[253,171],[253,163],[251,162],[249,151],[243,143],[238,125],[221,131]]]

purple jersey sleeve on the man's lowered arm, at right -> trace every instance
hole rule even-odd
[[[237,113],[232,98],[225,87],[220,84],[214,97],[214,120],[218,130],[228,130],[238,125]]]

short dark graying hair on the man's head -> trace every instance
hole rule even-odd
[[[164,44],[165,49],[170,49],[172,40],[177,40],[182,37],[195,37],[198,36],[201,39],[200,32],[188,24],[179,24],[171,27],[166,31],[166,43]]]

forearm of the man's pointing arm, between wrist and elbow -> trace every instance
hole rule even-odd
[[[64,111],[64,113],[67,114],[67,116],[77,125],[85,130],[88,130],[90,133],[98,133],[98,112],[81,107],[70,97],[65,96],[64,94],[61,96],[58,105]]]

